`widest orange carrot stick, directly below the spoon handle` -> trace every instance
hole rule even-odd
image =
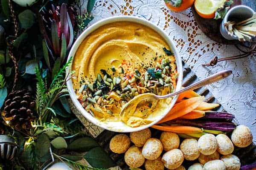
[[[197,108],[198,105],[200,105],[200,103],[203,102],[203,100],[204,100],[204,96],[192,97],[190,99],[184,100],[183,102],[179,102],[175,104],[171,109],[171,111],[169,111],[169,113],[167,113],[167,115],[162,120],[160,120],[158,124],[167,122],[172,119],[176,119],[180,116],[183,116],[195,110],[195,108]]]

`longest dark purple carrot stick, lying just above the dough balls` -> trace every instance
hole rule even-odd
[[[171,124],[182,124],[188,126],[201,127],[208,130],[220,130],[224,132],[230,132],[236,128],[236,125],[232,122],[218,122],[218,121],[208,121],[208,120],[186,120],[186,119],[176,119],[169,121]]]

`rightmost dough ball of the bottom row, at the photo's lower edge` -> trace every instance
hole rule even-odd
[[[240,170],[240,159],[235,155],[230,154],[221,156],[221,161],[224,161],[226,170]]]

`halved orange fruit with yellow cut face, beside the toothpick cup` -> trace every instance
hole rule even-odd
[[[214,18],[215,11],[221,8],[226,0],[195,0],[195,11],[203,18]]]

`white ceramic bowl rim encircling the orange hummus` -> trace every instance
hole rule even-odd
[[[116,16],[116,17],[110,17],[110,18],[106,18],[104,20],[100,20],[99,22],[93,24],[92,26],[87,28],[77,38],[76,42],[74,43],[73,47],[70,50],[70,54],[68,56],[68,59],[70,59],[70,57],[75,56],[76,51],[79,48],[79,45],[85,39],[85,37],[87,37],[91,32],[93,32],[94,30],[96,30],[97,28],[99,28],[101,26],[104,26],[105,24],[113,23],[113,22],[120,22],[120,21],[140,23],[140,24],[142,24],[144,26],[147,26],[147,27],[153,29],[154,31],[158,32],[158,34],[160,34],[163,37],[163,39],[166,40],[166,42],[169,45],[169,47],[171,48],[172,52],[174,52],[174,54],[175,54],[177,72],[179,73],[179,75],[177,77],[177,87],[176,87],[175,90],[176,91],[180,90],[181,83],[182,83],[182,78],[183,78],[183,71],[182,71],[181,58],[180,58],[180,55],[178,54],[178,51],[177,51],[177,48],[176,48],[175,44],[173,43],[173,41],[170,39],[170,37],[161,28],[159,28],[159,27],[155,26],[154,24],[150,23],[148,20],[145,20],[145,19],[140,18],[140,17]],[[67,68],[66,73],[68,73],[69,71],[70,71],[70,68]],[[154,122],[152,122],[148,125],[140,126],[140,127],[129,127],[129,126],[125,125],[123,122],[101,122],[101,121],[99,121],[99,119],[96,119],[95,117],[91,116],[87,111],[85,111],[85,109],[82,107],[80,102],[77,100],[76,94],[75,94],[74,89],[73,89],[72,80],[69,80],[67,82],[67,88],[68,88],[68,91],[69,91],[69,94],[70,94],[70,98],[72,99],[72,102],[74,103],[76,108],[79,110],[79,112],[89,122],[92,122],[93,124],[95,124],[99,127],[102,127],[106,130],[111,130],[111,131],[115,131],[115,132],[134,132],[134,131],[138,131],[138,130],[143,130],[145,128],[151,127],[152,125],[156,124],[158,121],[160,121],[169,112],[169,111],[166,111],[165,113],[158,114],[155,117]],[[171,108],[175,104],[175,102],[177,100],[177,97],[178,96],[175,96],[174,99],[172,100],[169,110],[171,110]]]

